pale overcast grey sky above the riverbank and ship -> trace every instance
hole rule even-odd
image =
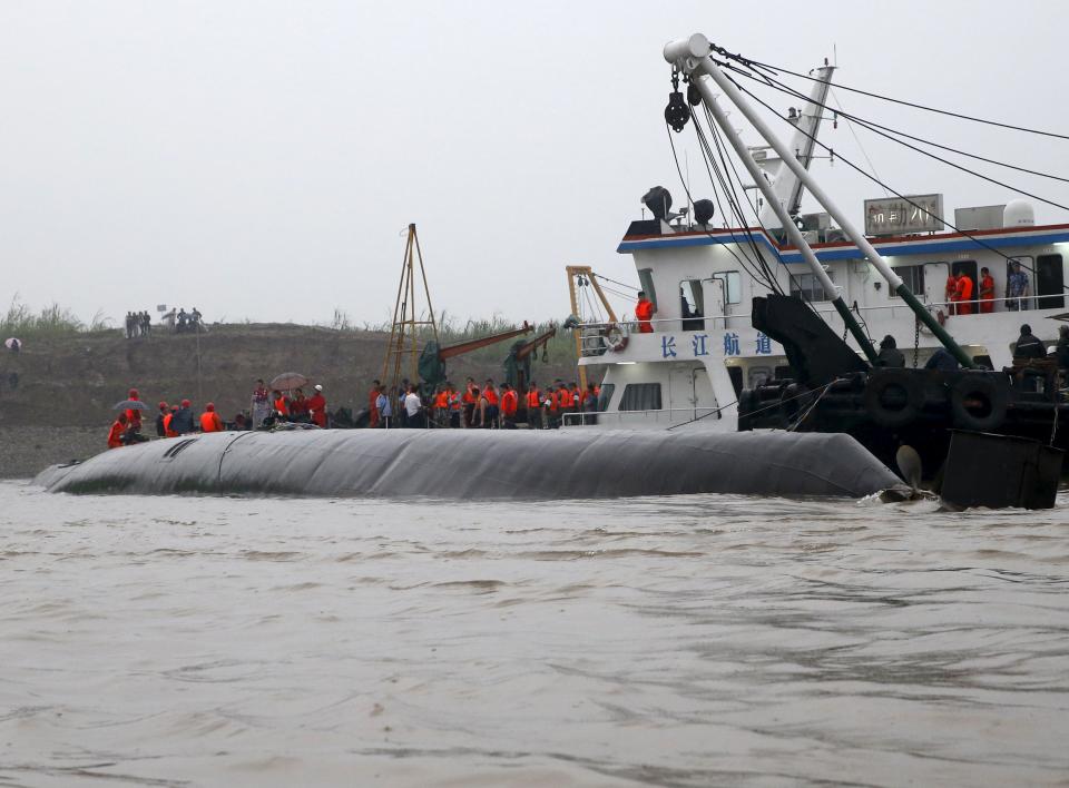
[[[844,85],[1066,132],[1067,9],[3,0],[0,306],[18,293],[84,318],[166,303],[209,321],[327,323],[340,308],[377,323],[414,221],[437,308],[563,317],[565,265],[634,280],[615,248],[639,197],[663,184],[683,200],[663,119],[666,40],[702,31],[796,70],[834,52]],[[1069,177],[1069,141],[837,96]],[[822,138],[860,158],[843,124]],[[948,213],[1013,196],[862,139],[895,188],[942,191]],[[679,141],[707,195],[693,131]],[[841,165],[814,170],[859,221],[881,196]],[[999,175],[1069,204],[1066,184]],[[1069,221],[1043,206],[1038,218]]]

